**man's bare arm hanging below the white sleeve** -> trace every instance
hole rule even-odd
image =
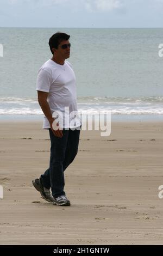
[[[38,96],[39,105],[51,125],[51,130],[53,131],[53,133],[56,137],[61,138],[63,136],[62,131],[59,129],[57,131],[53,130],[52,125],[53,125],[53,121],[55,119],[52,117],[51,109],[47,102],[48,93],[37,90],[37,96]]]

